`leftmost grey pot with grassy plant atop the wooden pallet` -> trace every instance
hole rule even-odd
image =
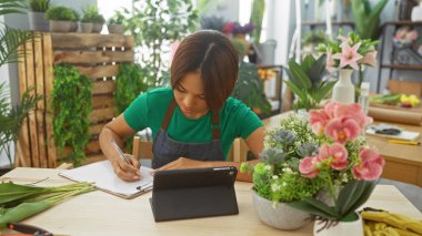
[[[34,31],[49,31],[46,11],[50,8],[50,0],[30,0],[28,11],[29,29]]]

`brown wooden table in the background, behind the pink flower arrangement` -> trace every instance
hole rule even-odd
[[[277,127],[280,124],[280,120],[287,117],[287,115],[288,113],[282,113],[265,119],[262,122],[269,130]],[[422,126],[396,123],[388,124],[400,126],[406,131],[421,133],[416,141],[422,142]],[[366,135],[368,143],[378,148],[380,154],[385,158],[382,177],[422,187],[422,145],[393,144],[386,142],[388,140],[386,137]]]

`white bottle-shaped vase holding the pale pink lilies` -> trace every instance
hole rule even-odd
[[[339,71],[339,80],[333,86],[332,101],[343,104],[354,103],[354,85],[352,83],[352,72],[350,69]]]

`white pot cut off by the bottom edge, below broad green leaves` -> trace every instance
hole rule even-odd
[[[359,215],[359,214],[358,214]],[[354,222],[338,222],[332,224],[330,227],[321,227],[325,223],[315,220],[313,225],[313,235],[314,236],[363,236],[363,222],[361,215]]]

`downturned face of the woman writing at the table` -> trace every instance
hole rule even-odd
[[[174,88],[174,98],[184,116],[199,119],[208,113],[205,92],[199,72],[187,73]]]

